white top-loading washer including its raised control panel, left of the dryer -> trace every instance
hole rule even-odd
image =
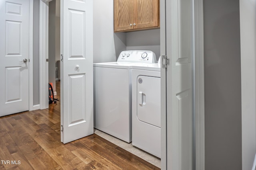
[[[117,62],[94,64],[94,128],[132,141],[132,66],[156,63],[152,51],[122,51]]]

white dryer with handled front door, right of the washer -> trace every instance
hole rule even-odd
[[[160,63],[133,66],[132,145],[161,158]]]

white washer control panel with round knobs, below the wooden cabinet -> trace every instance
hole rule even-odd
[[[117,62],[156,63],[156,54],[148,50],[122,51]]]

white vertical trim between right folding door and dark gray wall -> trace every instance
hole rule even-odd
[[[204,8],[203,0],[194,0],[195,18],[195,109],[196,170],[205,169],[204,130]]]

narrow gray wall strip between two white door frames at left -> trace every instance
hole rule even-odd
[[[39,104],[39,2],[34,0],[33,16],[33,105]]]

